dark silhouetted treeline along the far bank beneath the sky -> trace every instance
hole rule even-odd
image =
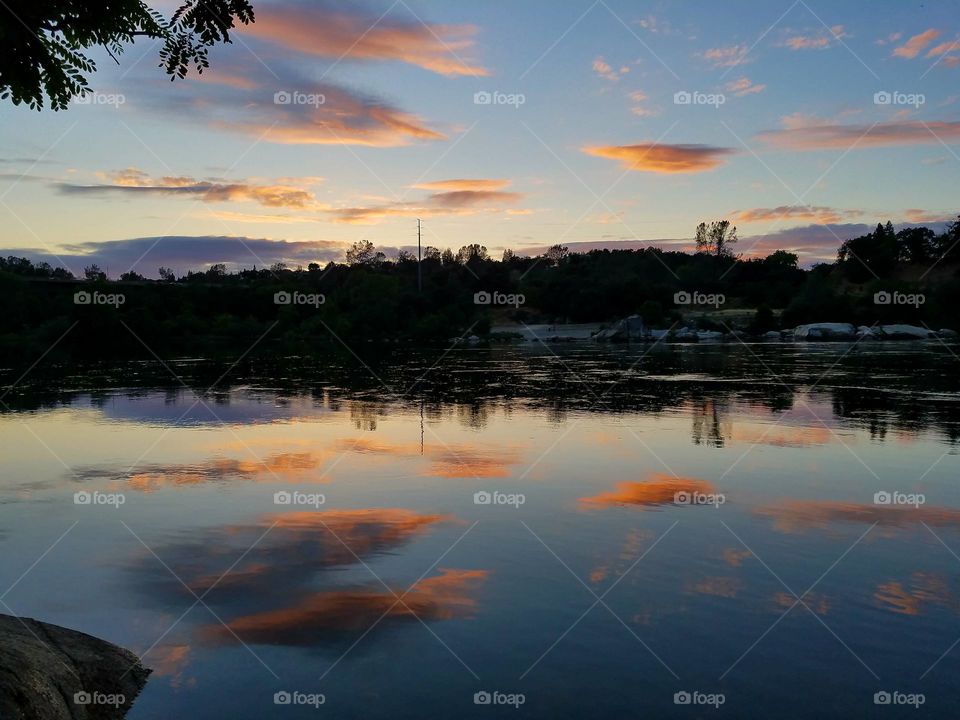
[[[8,257],[0,258],[0,352],[27,357],[61,336],[61,350],[94,355],[227,351],[258,338],[264,347],[311,352],[341,341],[448,342],[488,336],[501,323],[606,322],[634,313],[653,327],[729,322],[753,332],[804,322],[951,327],[960,306],[958,242],[960,221],[939,234],[880,224],[842,243],[835,262],[809,270],[785,251],[738,257],[736,230],[725,222],[698,228],[695,253],[578,254],[554,246],[539,257],[508,250],[493,259],[468,245],[456,253],[427,248],[418,267],[409,252],[388,259],[362,241],[345,263],[326,267],[230,273],[218,264],[182,277],[160,268],[159,280],[134,272],[109,279],[95,265],[76,278]],[[711,308],[691,315],[675,303],[681,291],[723,295],[720,310],[743,312],[722,322]],[[922,302],[877,304],[880,292],[922,295]],[[478,304],[478,293],[493,301]]]

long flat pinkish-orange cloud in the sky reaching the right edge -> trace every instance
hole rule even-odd
[[[785,123],[786,124],[786,123]],[[791,124],[760,133],[764,142],[784,150],[846,150],[921,145],[960,140],[960,122],[903,121],[870,125]]]

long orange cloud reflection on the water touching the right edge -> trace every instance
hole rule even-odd
[[[883,528],[905,528],[920,523],[933,527],[960,527],[960,510],[923,505],[919,508],[842,502],[837,500],[789,500],[754,511],[773,520],[785,533],[827,528],[835,523],[857,523]]]

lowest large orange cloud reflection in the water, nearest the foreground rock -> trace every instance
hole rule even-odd
[[[209,626],[200,636],[214,644],[234,644],[236,635],[247,643],[308,646],[318,634],[363,631],[381,618],[426,622],[471,617],[476,600],[470,593],[486,580],[487,571],[440,573],[421,580],[406,595],[402,588],[395,594],[367,588],[320,592],[290,608],[234,618],[227,627]]]

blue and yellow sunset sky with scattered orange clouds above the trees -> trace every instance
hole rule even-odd
[[[0,253],[155,277],[391,256],[418,218],[494,257],[729,219],[809,265],[960,212],[960,0],[253,5],[202,75],[140,38],[65,111],[0,105]]]

